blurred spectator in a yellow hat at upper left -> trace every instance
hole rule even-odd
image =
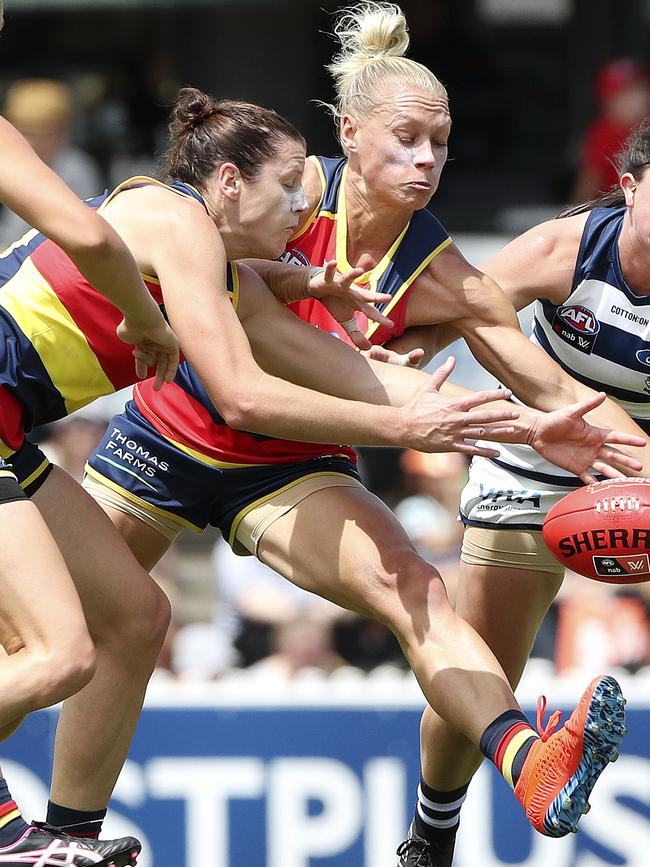
[[[7,91],[3,114],[27,139],[37,155],[79,198],[103,190],[94,160],[70,143],[72,94],[60,81],[22,79]],[[30,227],[8,209],[0,220],[0,244],[17,240]]]

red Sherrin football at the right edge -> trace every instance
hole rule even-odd
[[[609,584],[650,580],[650,479],[609,479],[567,494],[542,528],[567,569]]]

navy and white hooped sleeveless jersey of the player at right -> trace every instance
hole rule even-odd
[[[607,392],[650,434],[650,295],[633,292],[621,270],[618,238],[624,215],[625,208],[590,213],[571,294],[563,304],[535,302],[530,339],[574,379]],[[499,448],[496,463],[520,473],[523,468],[540,481],[567,479],[531,449]]]

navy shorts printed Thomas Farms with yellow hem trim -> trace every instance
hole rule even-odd
[[[122,498],[163,518],[173,518],[194,532],[201,533],[208,525],[218,527],[231,545],[233,527],[236,529],[241,516],[292,483],[320,475],[344,475],[359,482],[356,467],[335,455],[235,468],[213,466],[209,461],[166,440],[129,401],[124,412],[109,422],[88,459],[86,473],[91,482],[98,481]]]

